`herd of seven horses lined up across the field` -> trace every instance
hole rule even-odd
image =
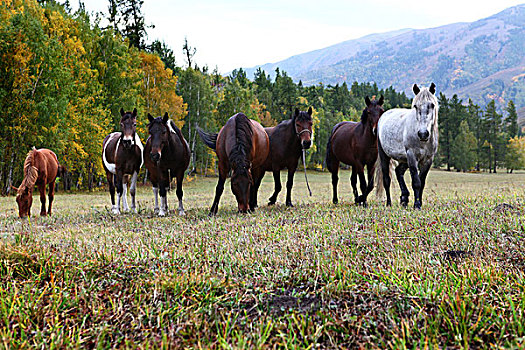
[[[359,122],[345,121],[332,129],[326,150],[326,166],[332,175],[333,202],[338,202],[337,184],[340,163],[352,167],[350,177],[355,203],[367,206],[367,197],[374,188],[374,175],[379,179],[378,191],[384,190],[387,206],[390,198],[391,173],[395,174],[401,189],[400,203],[408,206],[409,191],[403,175],[410,170],[414,192],[414,208],[422,205],[425,181],[438,146],[438,101],[434,83],[429,88],[412,88],[415,97],[412,108],[383,110],[384,98],[365,98]],[[136,184],[142,165],[148,170],[155,198],[154,212],[168,213],[167,192],[173,177],[177,179],[178,212],[184,215],[182,182],[189,166],[191,152],[182,132],[169,119],[168,113],[154,118],[148,114],[149,137],[143,146],[136,133],[137,110],[120,110],[120,132],[106,136],[102,143],[102,161],[111,196],[112,212],[136,212]],[[259,122],[242,113],[232,116],[218,133],[197,129],[203,142],[214,149],[218,158],[219,180],[210,216],[217,213],[224,184],[231,177],[231,190],[242,213],[257,208],[257,194],[267,171],[273,173],[275,190],[269,199],[273,205],[282,189],[280,171],[288,169],[286,205],[293,206],[291,192],[293,178],[301,154],[310,148],[313,140],[312,108],[299,111],[291,119],[275,127],[264,128]],[[365,179],[365,166],[367,179]],[[17,191],[16,201],[21,218],[30,215],[32,192],[35,185],[40,191],[40,215],[51,214],[54,184],[63,171],[57,156],[50,150],[33,148],[24,162],[24,180]],[[374,174],[376,173],[376,174]],[[357,189],[357,178],[361,194]],[[49,186],[49,207],[46,211],[45,186]],[[127,190],[131,195],[131,208],[127,203]],[[115,203],[115,189],[117,201]],[[160,206],[158,196],[160,194]]]

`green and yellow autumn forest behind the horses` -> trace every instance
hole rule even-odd
[[[410,107],[411,96],[373,82],[305,86],[279,69],[274,79],[261,69],[253,77],[241,68],[222,75],[198,65],[197,48],[188,40],[177,61],[163,41],[148,41],[142,4],[108,0],[107,13],[93,15],[82,3],[73,11],[68,1],[0,3],[2,194],[22,180],[24,158],[33,146],[53,150],[67,168],[61,189],[103,185],[102,140],[119,129],[121,108],[137,108],[143,141],[147,113],[168,112],[190,143],[189,172],[213,175],[215,155],[196,137],[196,126],[218,131],[238,112],[273,126],[290,118],[296,107],[312,106],[315,136],[307,165],[322,170],[332,127],[358,121],[365,96],[383,95],[385,110]],[[498,111],[494,102],[478,106],[438,94],[436,167],[511,172],[525,166],[525,139],[513,101]]]

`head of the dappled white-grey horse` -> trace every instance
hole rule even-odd
[[[416,110],[417,137],[419,141],[427,142],[434,129],[438,111],[438,102],[434,95],[436,85],[432,83],[428,89],[419,89],[417,84],[414,84],[412,91],[416,95],[412,101],[412,108]]]

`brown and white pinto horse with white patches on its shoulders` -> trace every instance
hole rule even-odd
[[[144,162],[142,151],[144,147],[136,133],[137,109],[133,112],[124,112],[120,109],[121,132],[114,132],[106,136],[102,143],[102,163],[106,170],[111,195],[111,210],[114,214],[120,213],[120,200],[122,209],[129,211],[126,192],[130,182],[131,210],[137,211],[135,206],[135,192],[137,177]],[[131,176],[131,180],[127,178]],[[117,205],[115,205],[115,187],[117,188]]]

